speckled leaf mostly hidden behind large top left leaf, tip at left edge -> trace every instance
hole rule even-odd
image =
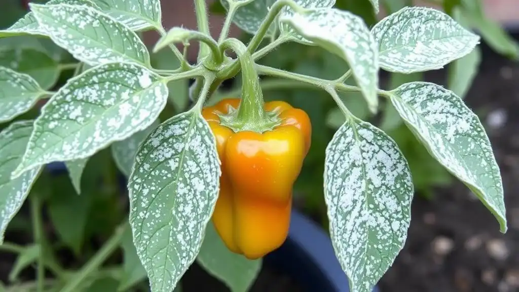
[[[50,0],[46,5],[54,4],[71,4],[71,5],[87,5],[96,9],[101,9],[99,6],[92,3],[90,0]],[[24,17],[11,25],[6,30],[0,30],[0,37],[15,36],[15,35],[47,35],[45,30],[40,29],[33,12],[28,12]]]

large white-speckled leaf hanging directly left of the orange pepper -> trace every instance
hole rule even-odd
[[[195,260],[220,174],[214,136],[199,113],[174,116],[139,148],[128,183],[130,224],[153,292],[170,292]]]

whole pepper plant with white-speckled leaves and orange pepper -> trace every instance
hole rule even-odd
[[[166,31],[159,0],[30,4],[29,14],[0,31],[0,37],[48,38],[76,60],[67,65],[74,76],[57,91],[34,75],[0,67],[0,122],[10,123],[0,133],[2,240],[45,165],[64,162],[80,192],[89,159],[110,148],[128,177],[128,221],[92,261],[51,289],[84,288],[89,273],[125,236],[131,239],[125,255],[134,262],[125,264],[126,283],[119,290],[147,276],[152,291],[172,291],[195,260],[232,290],[248,289],[261,258],[286,238],[292,184],[312,130],[305,112],[264,103],[260,76],[323,90],[344,116],[325,150],[323,187],[331,240],[352,291],[371,291],[402,249],[414,187],[397,144],[353,115],[339,97],[343,92],[359,92],[372,113],[380,99],[390,102],[430,155],[507,231],[499,168],[479,118],[462,99],[427,82],[379,88],[380,69],[440,69],[469,55],[478,35],[423,7],[404,7],[369,28],[361,17],[334,7],[334,0],[222,0],[227,16],[214,39],[206,3],[194,2],[197,31]],[[378,13],[378,1],[371,4]],[[233,22],[253,35],[249,42],[228,37]],[[152,49],[140,38],[148,30],[161,35]],[[186,60],[190,42],[200,43],[195,64]],[[322,78],[258,64],[290,42],[322,47],[348,66],[342,75]],[[179,68],[152,65],[151,57],[165,50],[179,59]],[[219,100],[220,85],[236,76],[240,97]],[[188,78],[195,79],[192,106],[164,118],[168,102],[179,102],[168,85]],[[34,120],[16,120],[44,98],[49,100]],[[33,206],[39,214],[40,205]],[[60,269],[45,261],[41,234],[35,238],[42,291],[45,267],[56,274]]]

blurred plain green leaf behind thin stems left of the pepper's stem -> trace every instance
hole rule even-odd
[[[160,50],[151,56],[153,68],[159,70],[175,70],[179,68],[180,61],[171,50]],[[176,112],[182,112],[189,103],[189,82],[187,79],[168,82],[169,101],[175,107]]]

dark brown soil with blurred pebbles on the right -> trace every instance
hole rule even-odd
[[[441,71],[428,81],[445,84]],[[401,254],[379,282],[381,292],[519,291],[519,62],[483,47],[466,103],[484,124],[503,178],[509,230],[465,185],[415,196]]]

